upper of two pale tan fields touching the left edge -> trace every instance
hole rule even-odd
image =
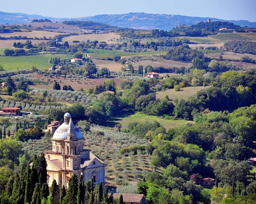
[[[35,30],[32,30],[32,32],[13,32],[13,33],[1,33],[0,36],[1,37],[11,37],[11,36],[26,36],[26,37],[54,37],[55,35],[57,34],[62,34],[62,33],[59,33],[59,32],[49,32],[49,31],[35,31]],[[17,41],[17,40],[16,40]]]

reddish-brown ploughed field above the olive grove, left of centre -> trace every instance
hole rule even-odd
[[[35,79],[47,81],[47,77],[44,77],[44,75],[41,74],[30,74]],[[40,88],[40,89],[52,89],[52,85],[54,83],[54,80],[57,80],[58,83],[60,83],[61,87],[64,85],[70,85],[73,89],[79,90],[79,89],[89,89],[89,88],[95,88],[96,85],[103,84],[104,81],[106,80],[105,78],[99,78],[99,79],[88,79],[84,80],[77,80],[75,81],[74,79],[68,79],[68,78],[62,78],[62,77],[52,77],[50,78],[49,85],[29,85],[31,88]],[[116,86],[120,86],[121,83],[124,81],[124,79],[119,79],[119,78],[111,78],[115,81]],[[60,82],[61,80],[61,82]],[[84,80],[84,82],[82,81]]]

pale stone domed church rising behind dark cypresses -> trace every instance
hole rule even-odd
[[[49,187],[55,179],[57,184],[68,188],[68,180],[73,175],[84,182],[93,178],[93,183],[105,181],[105,164],[84,149],[83,135],[73,124],[71,115],[64,115],[64,123],[56,129],[52,137],[52,150],[45,152],[47,161],[47,183]]]

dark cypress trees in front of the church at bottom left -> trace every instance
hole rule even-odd
[[[103,191],[102,183],[93,185],[93,180],[86,183],[77,175],[69,179],[69,188],[59,187],[55,180],[49,190],[47,184],[47,162],[42,153],[34,155],[32,167],[22,167],[15,176],[11,176],[5,190],[0,192],[1,204],[122,204],[108,195],[108,187]]]

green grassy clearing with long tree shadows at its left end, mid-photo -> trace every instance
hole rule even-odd
[[[148,121],[148,122],[157,121],[161,125],[163,125],[166,129],[169,129],[171,127],[178,127],[188,122],[183,120],[177,120],[177,121],[166,120],[153,115],[145,115],[140,112],[137,112],[137,113],[124,112],[122,115],[119,115],[116,118],[113,118],[111,121],[108,121],[108,126],[114,126],[115,124],[120,123],[122,124],[122,129],[128,129],[128,124],[131,122],[145,122],[145,121]]]

